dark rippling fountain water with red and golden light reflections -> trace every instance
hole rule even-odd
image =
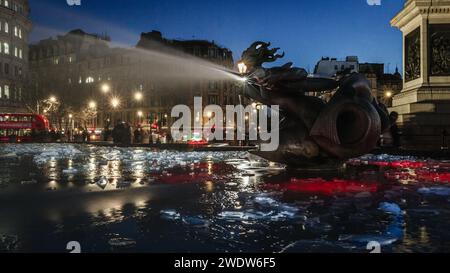
[[[0,251],[450,252],[450,161],[0,145]]]

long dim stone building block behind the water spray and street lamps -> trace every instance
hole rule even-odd
[[[67,124],[70,116],[89,128],[111,128],[119,120],[167,128],[172,107],[193,106],[194,96],[223,107],[238,101],[233,82],[191,79],[189,66],[179,64],[185,55],[226,68],[234,65],[231,51],[214,42],[169,40],[153,31],[142,33],[136,47],[122,48],[105,35],[74,30],[30,47],[31,93],[36,101],[58,99],[63,106],[56,114],[63,119],[59,123]],[[86,117],[89,108],[96,111]]]

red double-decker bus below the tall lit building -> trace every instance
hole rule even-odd
[[[0,113],[0,142],[43,141],[49,128],[48,119],[41,115]]]

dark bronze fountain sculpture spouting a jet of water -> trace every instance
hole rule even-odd
[[[311,77],[287,63],[264,68],[283,58],[279,48],[255,42],[239,63],[248,81],[245,95],[265,105],[280,107],[280,146],[275,152],[255,152],[270,161],[295,167],[335,164],[373,150],[389,128],[389,113],[371,93],[370,83],[358,73],[336,78]],[[333,92],[325,101],[308,92]]]

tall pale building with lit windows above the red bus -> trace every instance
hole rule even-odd
[[[0,0],[0,112],[25,110],[29,15],[27,0]]]

